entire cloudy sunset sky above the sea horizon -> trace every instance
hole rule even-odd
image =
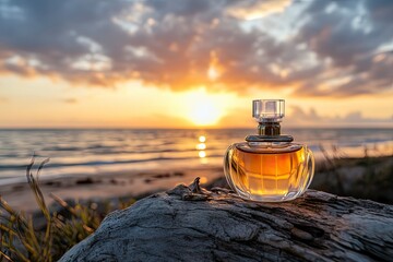
[[[393,127],[391,0],[0,0],[0,128]]]

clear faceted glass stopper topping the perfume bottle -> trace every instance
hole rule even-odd
[[[252,102],[252,117],[258,122],[279,122],[284,116],[284,99],[258,99]]]

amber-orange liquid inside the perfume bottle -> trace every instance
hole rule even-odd
[[[305,148],[279,153],[250,153],[234,148],[229,167],[234,186],[261,196],[298,191],[303,179]]]

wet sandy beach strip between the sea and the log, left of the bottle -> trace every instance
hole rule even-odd
[[[45,172],[45,169],[44,169]],[[191,183],[195,177],[201,178],[201,183],[211,182],[223,177],[223,168],[207,166],[202,168],[182,168],[166,170],[165,168],[138,171],[112,172],[96,176],[72,176],[40,179],[39,184],[47,200],[53,202],[50,194],[63,200],[104,200],[117,196],[138,196],[156,191],[170,189],[178,183]],[[37,209],[34,194],[27,180],[14,184],[0,186],[0,195],[15,210],[32,212]]]

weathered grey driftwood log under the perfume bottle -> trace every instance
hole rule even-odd
[[[190,187],[109,214],[60,261],[392,261],[393,206],[309,190],[257,203]]]

